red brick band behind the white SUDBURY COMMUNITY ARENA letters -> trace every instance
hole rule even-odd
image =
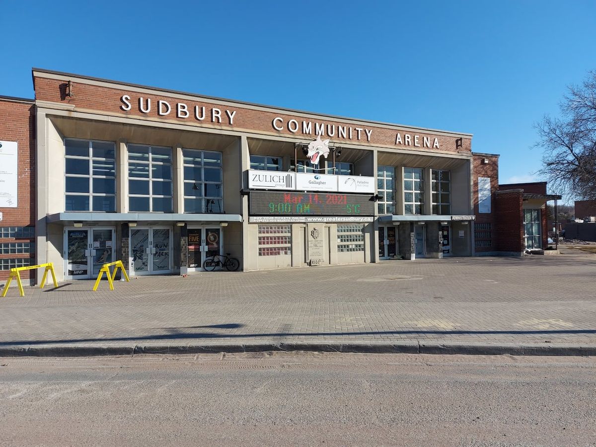
[[[254,108],[248,108],[244,104],[215,104],[210,103],[208,100],[204,101],[202,98],[197,97],[196,100],[180,99],[167,96],[167,92],[160,94],[147,94],[133,92],[127,89],[125,85],[117,85],[114,83],[114,87],[90,85],[88,83],[76,82],[72,80],[72,97],[67,97],[67,80],[68,76],[64,75],[64,80],[59,79],[48,79],[46,77],[35,76],[34,87],[35,97],[37,100],[52,101],[54,103],[74,105],[76,110],[95,110],[103,111],[115,116],[125,116],[142,118],[146,120],[159,120],[161,122],[175,122],[185,123],[188,125],[201,126],[215,129],[230,129],[234,131],[249,131],[256,132],[259,134],[269,135],[281,135],[281,136],[297,136],[305,138],[302,134],[302,121],[306,120],[312,122],[312,138],[315,138],[315,122],[325,123],[325,132],[327,131],[327,125],[335,126],[335,136],[329,136],[334,142],[353,142],[363,145],[384,145],[389,147],[399,148],[411,148],[415,150],[427,150],[430,152],[436,151],[450,151],[450,152],[467,152],[471,151],[471,138],[461,138],[461,145],[458,144],[458,136],[446,136],[446,135],[434,135],[430,132],[417,131],[416,129],[403,130],[403,129],[389,129],[375,126],[374,123],[370,125],[366,122],[350,122],[350,120],[337,120],[334,118],[328,118],[325,116],[298,116],[285,110],[255,110]],[[121,106],[123,102],[120,100],[122,95],[129,95],[131,100],[131,110],[122,110]],[[151,110],[148,113],[142,113],[139,110],[139,98],[142,97],[144,104],[146,105],[147,98],[151,99]],[[171,107],[171,111],[166,116],[160,116],[157,111],[157,101],[167,101]],[[184,103],[188,107],[189,116],[178,117],[176,116],[176,104]],[[197,120],[194,117],[194,107],[198,105],[199,110],[201,107],[205,107],[205,118],[204,120]],[[212,122],[212,116],[210,110],[213,108],[219,108],[221,110],[221,123]],[[229,118],[225,113],[228,109],[230,112],[236,111],[232,124],[229,123]],[[201,113],[200,113],[201,115]],[[281,117],[283,119],[283,129],[276,131],[272,126],[272,121],[275,117]],[[291,119],[296,119],[300,130],[296,133],[292,133],[287,129],[287,123]],[[337,126],[352,127],[352,138],[339,138]],[[356,137],[356,128],[372,130],[370,142],[367,141],[367,136],[364,130],[361,131],[361,138]],[[411,144],[396,145],[396,134],[400,132],[401,138],[405,138],[405,134],[411,135]],[[327,134],[325,134],[327,135]],[[419,135],[420,139],[418,144],[420,147],[414,146],[414,135]],[[430,138],[430,148],[424,148],[423,136]],[[308,137],[308,136],[307,136]],[[433,149],[434,138],[439,141],[439,148]]]

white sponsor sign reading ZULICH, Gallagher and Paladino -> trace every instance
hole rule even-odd
[[[249,169],[249,189],[375,193],[374,177]]]

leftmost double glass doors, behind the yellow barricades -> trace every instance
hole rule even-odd
[[[114,228],[64,229],[64,278],[97,277],[104,263],[114,259]]]

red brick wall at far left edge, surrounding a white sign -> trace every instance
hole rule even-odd
[[[21,101],[0,97],[0,140],[16,141],[18,144],[18,190],[17,207],[0,208],[0,226],[35,225],[35,105],[33,101]],[[15,242],[35,242],[35,238],[0,238],[0,245]],[[31,257],[35,254],[1,254],[4,259]],[[0,281],[8,278],[8,270],[0,270]],[[33,278],[35,271],[24,272],[21,278]]]

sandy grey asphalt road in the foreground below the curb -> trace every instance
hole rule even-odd
[[[1,445],[596,445],[596,358],[0,358]]]

